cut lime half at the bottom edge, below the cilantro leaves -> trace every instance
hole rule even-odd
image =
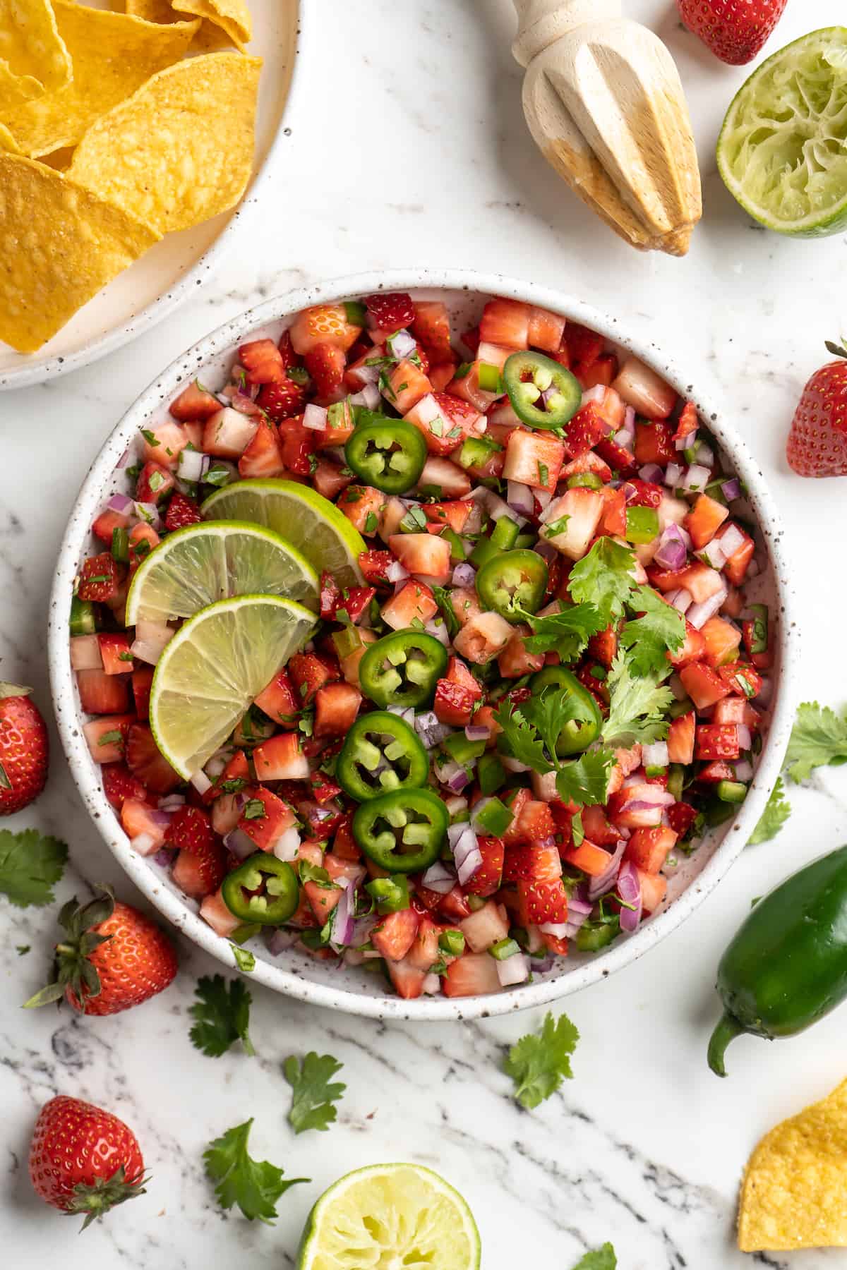
[[[477,1270],[471,1210],[420,1165],[357,1168],[324,1191],[306,1222],[297,1270]]]

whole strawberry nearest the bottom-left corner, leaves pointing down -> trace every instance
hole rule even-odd
[[[116,1204],[143,1195],[143,1160],[132,1130],[110,1111],[63,1095],[41,1109],[29,1176],[47,1204],[84,1213],[83,1229]]]

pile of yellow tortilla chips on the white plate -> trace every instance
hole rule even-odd
[[[245,0],[113,4],[0,0],[0,340],[22,353],[250,179]]]

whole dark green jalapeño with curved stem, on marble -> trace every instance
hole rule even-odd
[[[796,1036],[847,998],[847,847],[800,869],[756,904],[717,966],[724,1016],[709,1066],[726,1076],[742,1033]]]

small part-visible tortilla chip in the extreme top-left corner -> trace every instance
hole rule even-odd
[[[71,58],[50,0],[0,0],[0,109],[55,93],[71,80]]]

